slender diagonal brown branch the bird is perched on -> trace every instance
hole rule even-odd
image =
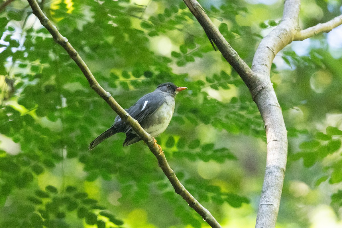
[[[78,67],[83,72],[84,76],[86,76],[90,87],[100,95],[108,105],[121,117],[122,120],[127,122],[132,129],[144,140],[147,144],[148,148],[152,151],[152,153],[156,156],[158,160],[158,164],[162,171],[165,173],[167,178],[170,180],[175,192],[183,197],[183,199],[192,207],[199,215],[202,216],[203,220],[205,220],[211,227],[213,228],[221,228],[220,224],[215,220],[215,218],[210,214],[210,212],[205,209],[190,193],[188,190],[184,188],[184,186],[180,183],[178,178],[176,177],[174,171],[169,166],[164,152],[159,149],[158,145],[154,142],[153,137],[144,131],[144,129],[140,126],[138,121],[133,119],[117,102],[116,100],[106,92],[100,84],[96,81],[93,74],[89,70],[86,63],[84,63],[83,59],[79,56],[77,51],[71,46],[66,37],[63,37],[61,33],[57,30],[56,26],[52,25],[50,20],[44,15],[43,11],[39,8],[39,5],[36,0],[27,0],[32,8],[32,12],[38,17],[40,23],[48,29],[51,33],[53,39],[56,43],[60,44],[65,51],[70,55],[70,57],[75,61]]]

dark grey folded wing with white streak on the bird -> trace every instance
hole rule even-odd
[[[152,115],[164,102],[165,102],[165,97],[163,96],[162,93],[158,93],[158,92],[148,93],[142,98],[140,98],[134,105],[132,105],[127,110],[127,112],[131,117],[133,117],[139,123],[141,123],[147,117]],[[115,118],[116,121],[119,119],[120,118],[118,119]],[[131,127],[127,126],[124,132],[127,133],[129,130],[131,130]]]

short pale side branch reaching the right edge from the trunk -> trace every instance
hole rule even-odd
[[[341,24],[342,24],[342,15],[334,17],[333,19],[331,19],[330,21],[326,23],[323,23],[323,24],[319,23],[315,26],[312,26],[310,28],[297,32],[293,40],[305,40],[321,32],[330,32],[333,28],[336,28],[337,26]]]

